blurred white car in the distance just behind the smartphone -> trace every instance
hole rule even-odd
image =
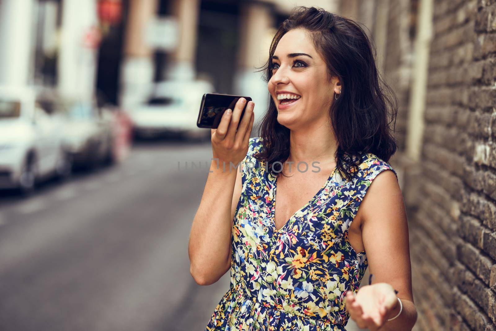
[[[148,100],[129,111],[135,136],[178,133],[187,138],[210,139],[210,130],[196,126],[204,93],[214,93],[213,85],[207,81],[156,83]]]

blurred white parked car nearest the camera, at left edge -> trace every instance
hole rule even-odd
[[[0,189],[29,193],[41,179],[70,174],[63,116],[43,104],[31,88],[0,87]]]

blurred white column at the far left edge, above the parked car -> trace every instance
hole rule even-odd
[[[33,0],[0,1],[0,84],[28,84],[33,22]]]

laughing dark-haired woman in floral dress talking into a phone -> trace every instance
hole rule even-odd
[[[350,317],[360,328],[412,330],[408,225],[387,163],[396,108],[367,35],[297,7],[272,41],[267,81],[260,137],[249,138],[253,102],[240,118],[244,99],[211,132],[190,273],[206,285],[230,270],[231,286],[206,330],[343,331]],[[240,162],[241,171],[230,166]],[[359,289],[367,267],[373,283]]]

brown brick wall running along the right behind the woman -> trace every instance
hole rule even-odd
[[[390,1],[386,74],[403,142],[408,48],[404,1]],[[404,166],[414,330],[496,330],[496,0],[434,0],[420,163]],[[401,43],[400,43],[401,44]],[[412,73],[414,74],[414,73]],[[404,80],[403,80],[404,81]],[[400,146],[403,147],[403,146]],[[392,163],[395,165],[395,163]]]

